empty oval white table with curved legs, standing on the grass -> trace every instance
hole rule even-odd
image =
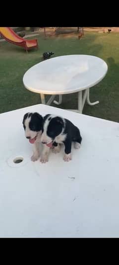
[[[78,92],[78,109],[82,113],[85,100],[89,105],[89,89],[98,84],[108,71],[107,64],[100,58],[90,55],[66,55],[55,57],[31,67],[23,77],[25,88],[41,94],[41,102],[50,105],[56,95],[62,102],[62,94]],[[84,90],[84,93],[82,92]],[[52,94],[46,103],[45,94]]]

